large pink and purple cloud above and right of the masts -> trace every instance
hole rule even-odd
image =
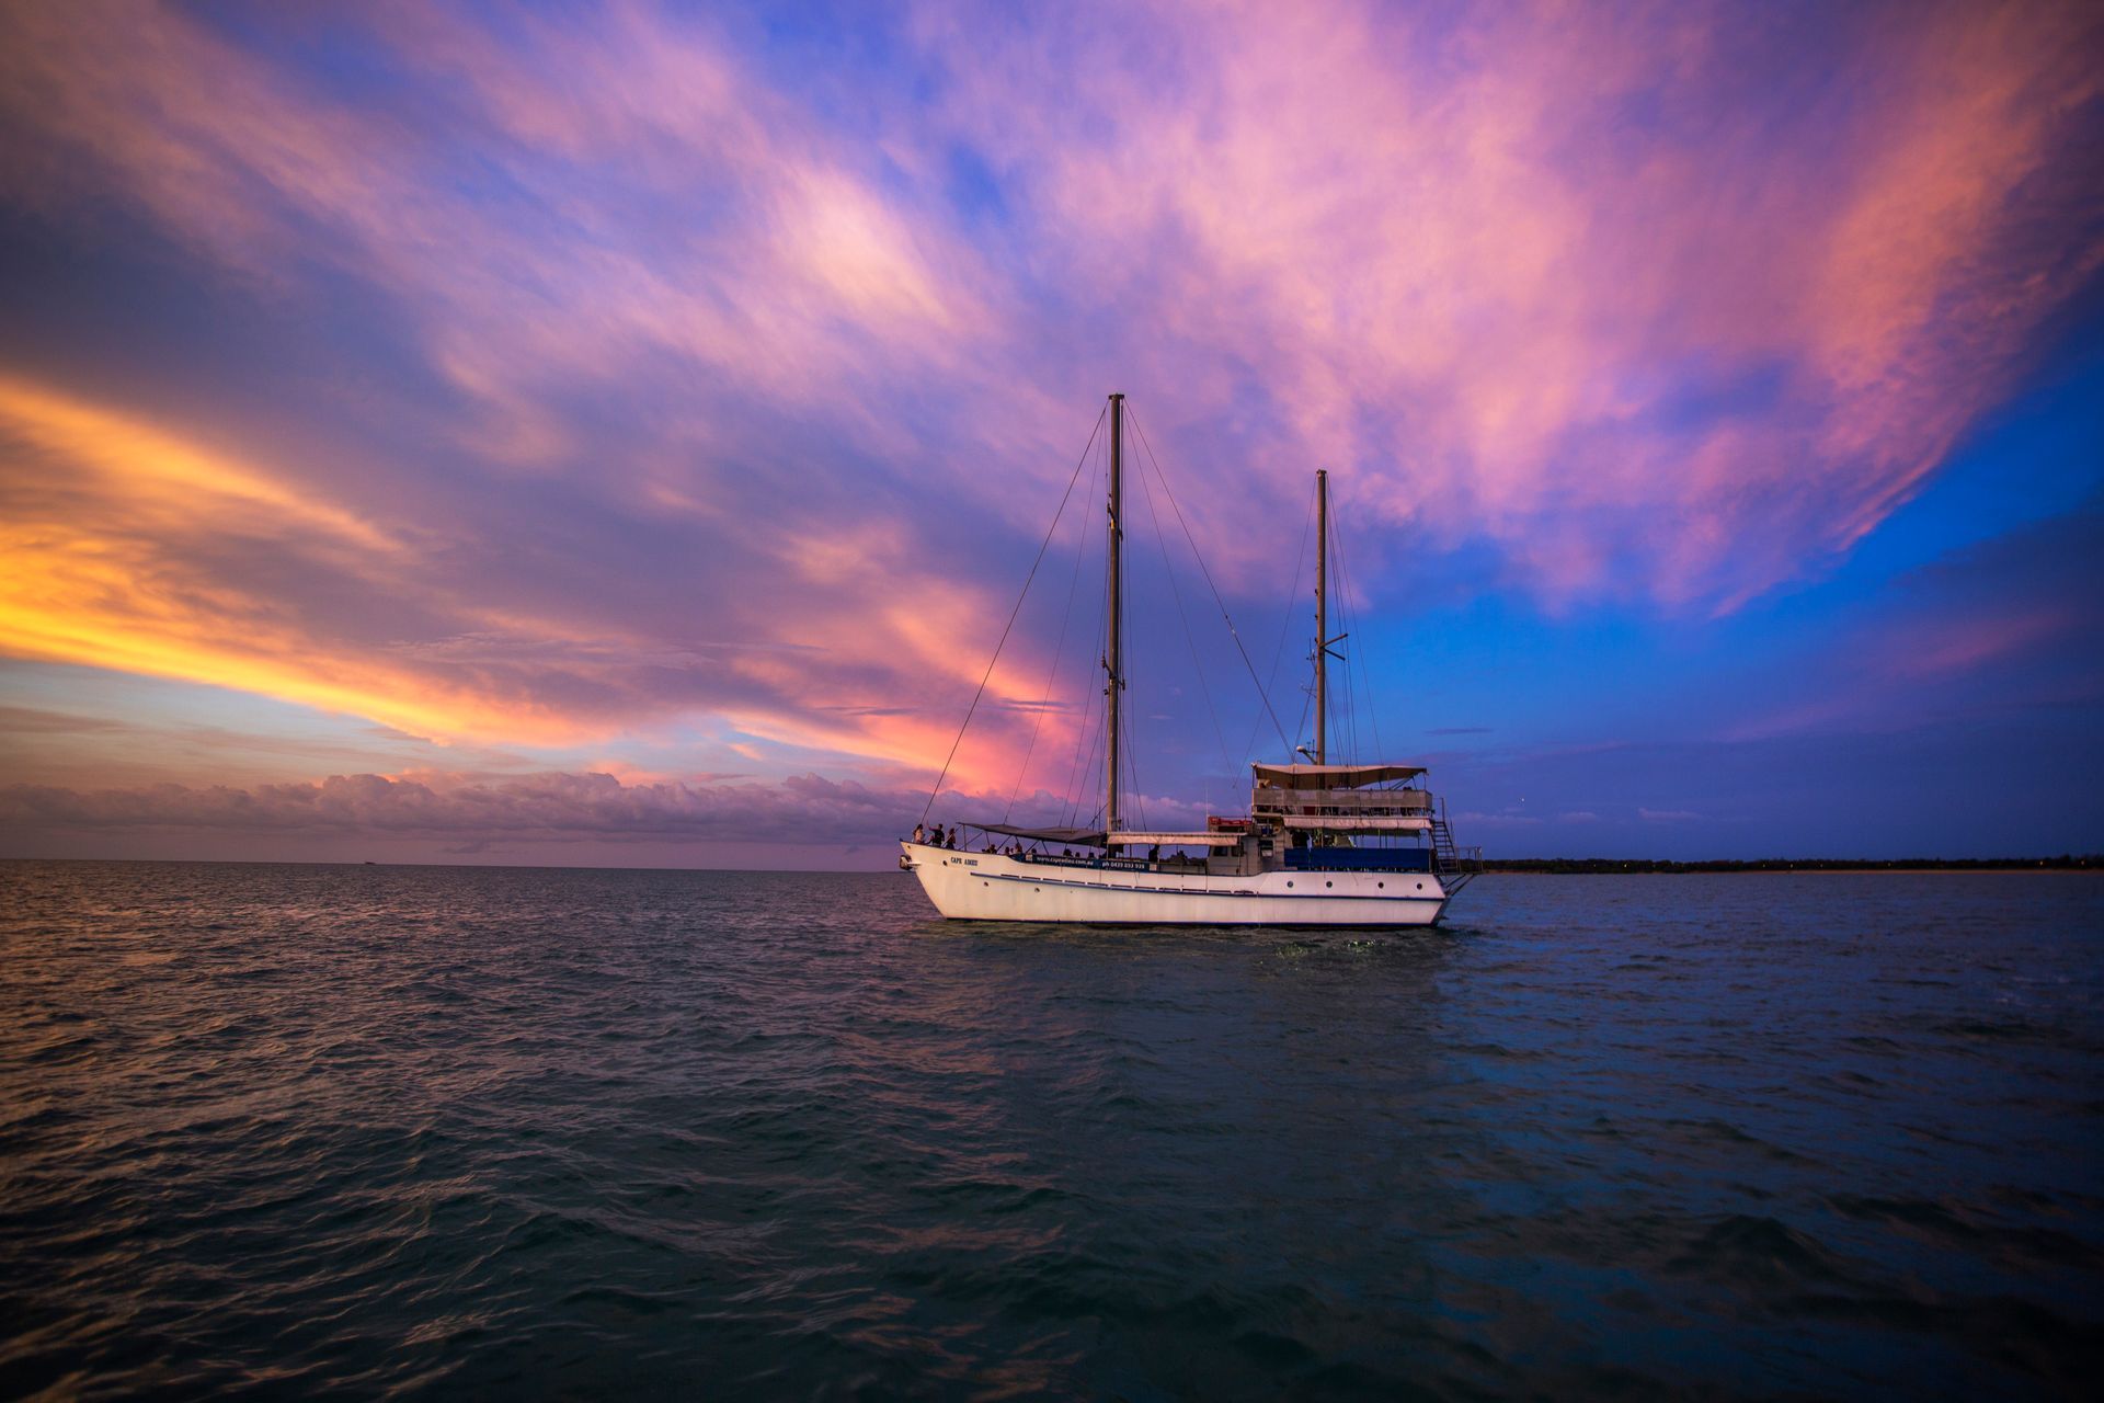
[[[1904,501],[2104,257],[2093,11],[1753,15],[926,27],[959,137],[1161,347],[1134,379],[1271,475],[1243,501],[1344,467],[1549,599],[1734,608]]]

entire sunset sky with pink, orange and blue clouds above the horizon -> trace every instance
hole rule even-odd
[[[2096,4],[0,6],[0,856],[886,865],[1081,463],[1065,814],[1113,389],[1161,820],[1323,467],[1462,841],[2104,850],[2100,172]]]

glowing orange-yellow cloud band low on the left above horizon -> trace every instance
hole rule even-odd
[[[783,747],[932,772],[955,734],[947,698],[983,667],[957,639],[991,639],[999,618],[987,593],[917,568],[907,538],[882,528],[778,547],[776,589],[802,581],[858,608],[797,610],[776,621],[774,646],[703,656],[604,618],[465,599],[433,578],[423,532],[19,379],[0,379],[0,652],[208,682],[440,740],[579,745],[707,707]],[[438,637],[377,644],[316,618],[309,597],[225,578],[225,551],[257,543],[290,553],[313,595],[364,595],[366,612]],[[997,707],[1035,690],[1023,652],[993,682],[959,782],[1006,755]],[[694,690],[638,682],[665,673]],[[579,705],[579,686],[598,700]],[[911,698],[945,705],[898,705]]]

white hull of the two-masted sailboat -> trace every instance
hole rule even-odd
[[[1431,873],[1275,871],[1229,877],[1033,862],[898,843],[928,900],[959,921],[1086,926],[1431,926],[1448,892]]]

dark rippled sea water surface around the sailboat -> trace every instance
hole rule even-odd
[[[2104,881],[0,865],[0,1395],[2077,1395]]]

